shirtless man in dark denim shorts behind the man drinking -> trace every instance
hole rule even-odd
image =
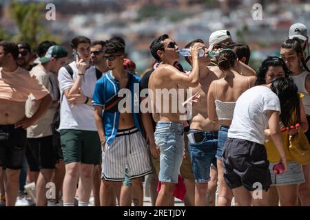
[[[209,206],[207,204],[208,182],[210,181],[210,166],[216,155],[218,143],[218,122],[211,122],[207,115],[207,94],[209,86],[213,80],[223,77],[211,72],[209,67],[210,58],[207,57],[207,49],[203,40],[196,39],[188,43],[185,47],[202,47],[206,54],[199,57],[199,85],[192,88],[193,94],[200,95],[200,102],[193,107],[192,123],[189,135],[192,135],[192,142],[189,139],[188,150],[192,160],[192,166],[196,181],[195,206]],[[185,57],[186,61],[192,65],[192,57]],[[216,161],[215,161],[216,162]],[[214,163],[216,165],[216,163]]]

